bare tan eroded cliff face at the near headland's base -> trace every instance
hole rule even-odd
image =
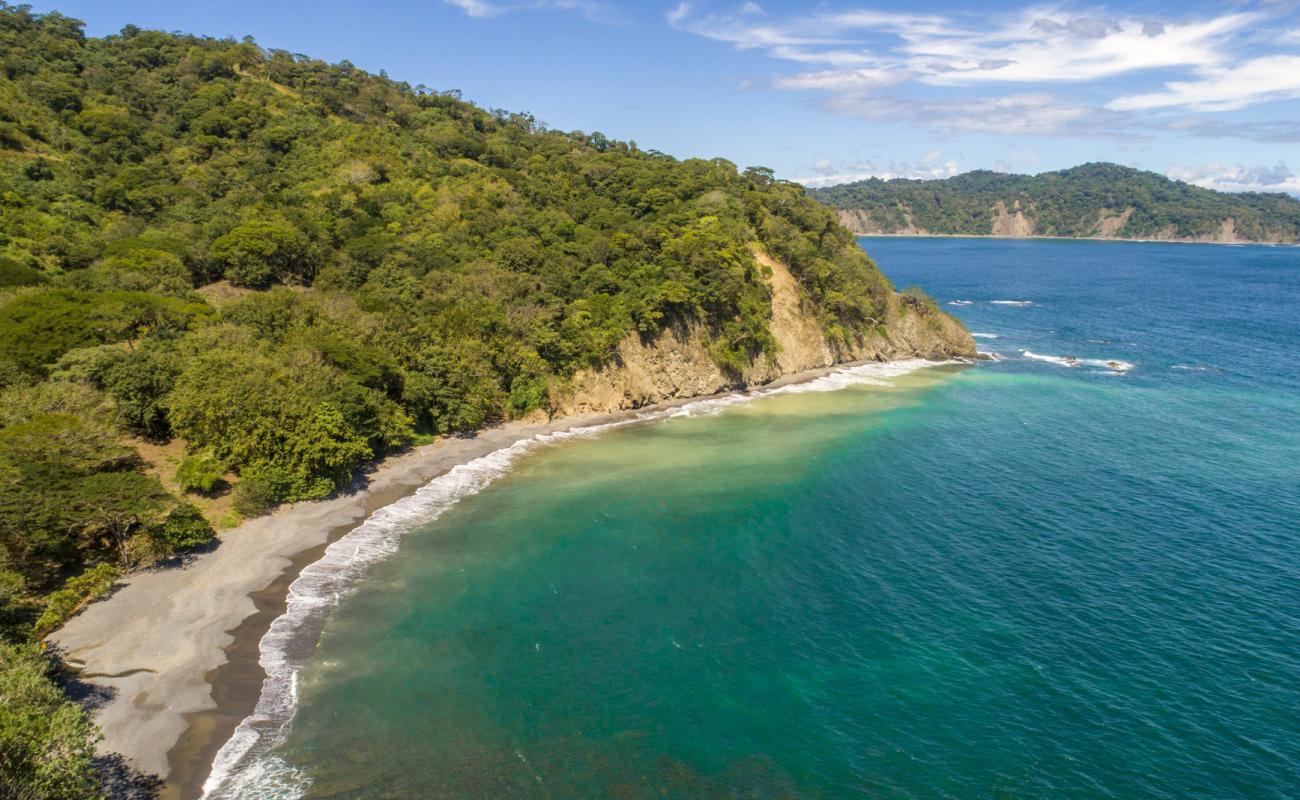
[[[725,373],[708,355],[708,332],[699,325],[671,328],[645,342],[629,336],[614,363],[577,372],[552,390],[555,415],[640,408],[671,399],[702,397],[770,384],[779,377],[835,364],[901,358],[935,360],[974,356],[975,340],[942,312],[920,311],[894,294],[883,330],[866,334],[853,347],[828,341],[800,295],[790,271],[763,251],[754,258],[767,267],[772,287],[771,329],[780,351],[759,359],[744,375]]]

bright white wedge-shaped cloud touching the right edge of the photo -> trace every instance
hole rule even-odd
[[[1262,56],[1228,69],[1208,68],[1193,81],[1171,81],[1164,91],[1108,103],[1115,111],[1190,108],[1235,111],[1269,100],[1300,98],[1300,56]]]

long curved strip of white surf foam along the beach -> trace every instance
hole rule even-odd
[[[266,678],[257,705],[213,758],[212,771],[203,784],[204,800],[295,800],[306,793],[306,775],[272,751],[289,734],[298,702],[298,674],[316,647],[326,615],[356,585],[367,568],[396,552],[404,533],[437,519],[463,497],[477,494],[508,472],[526,453],[576,438],[593,438],[623,425],[718,414],[727,407],[774,394],[888,385],[890,379],[909,372],[954,363],[962,362],[909,359],[845,367],[802,384],[727,394],[673,408],[647,411],[614,423],[537,434],[458,464],[413,494],[374,511],[360,526],[329,545],[320,561],[304,567],[290,584],[285,613],[270,623],[259,644],[259,662]]]

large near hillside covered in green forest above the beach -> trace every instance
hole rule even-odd
[[[689,324],[740,376],[779,349],[754,246],[845,351],[898,306],[835,215],[766,169],[23,7],[0,7],[0,59],[13,639],[212,523],[547,411],[629,334]]]

